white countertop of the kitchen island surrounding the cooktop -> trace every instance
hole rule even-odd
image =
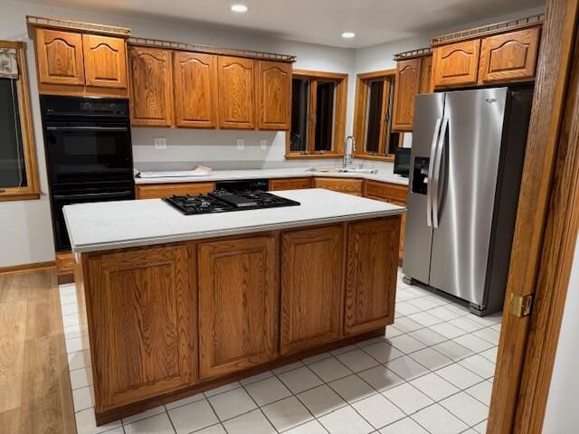
[[[76,253],[272,231],[401,214],[403,206],[311,188],[275,192],[300,206],[184,215],[161,199],[79,203],[63,208]]]

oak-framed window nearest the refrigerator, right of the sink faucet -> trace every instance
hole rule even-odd
[[[403,134],[392,131],[395,70],[358,74],[354,137],[356,156],[394,160]]]

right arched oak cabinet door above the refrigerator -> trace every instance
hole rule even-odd
[[[535,77],[539,26],[482,40],[479,82],[529,80]]]

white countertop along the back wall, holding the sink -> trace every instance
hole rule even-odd
[[[135,178],[135,184],[170,184],[170,183],[201,183],[206,181],[228,181],[235,179],[259,179],[259,178],[298,178],[298,177],[336,177],[358,178],[381,181],[383,183],[408,185],[408,178],[400,175],[386,173],[384,169],[378,169],[377,174],[327,174],[308,172],[308,167],[291,167],[280,169],[245,169],[245,170],[214,170],[207,176],[184,176],[162,178]]]

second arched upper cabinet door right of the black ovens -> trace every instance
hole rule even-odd
[[[177,127],[217,127],[217,59],[211,54],[175,52]]]

